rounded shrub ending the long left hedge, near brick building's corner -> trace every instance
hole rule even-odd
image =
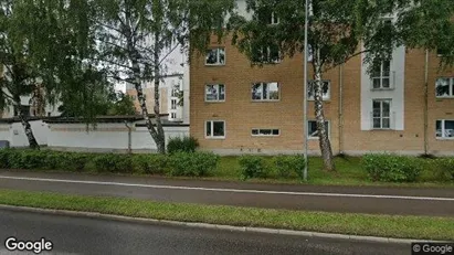
[[[169,157],[169,174],[173,177],[205,177],[215,170],[219,156],[211,152],[175,152]]]

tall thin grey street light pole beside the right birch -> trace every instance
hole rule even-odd
[[[308,30],[308,15],[309,15],[309,0],[306,0],[305,4],[305,14],[304,14],[304,60],[303,60],[303,65],[304,65],[304,95],[303,95],[303,108],[304,108],[304,114],[303,114],[303,127],[304,127],[304,172],[303,172],[303,179],[304,181],[307,181],[307,168],[308,168],[308,157],[307,157],[307,56],[308,56],[308,49],[307,49],[307,30]]]

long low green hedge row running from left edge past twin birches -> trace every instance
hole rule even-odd
[[[212,173],[218,162],[219,157],[209,152],[178,151],[171,156],[162,156],[0,149],[2,169],[202,177]]]

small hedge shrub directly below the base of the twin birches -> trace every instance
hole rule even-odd
[[[137,173],[160,174],[166,172],[167,161],[163,155],[135,155],[131,163]]]

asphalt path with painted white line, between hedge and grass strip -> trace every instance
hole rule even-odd
[[[0,189],[326,212],[454,216],[454,189],[272,185],[17,171],[0,172]]]

